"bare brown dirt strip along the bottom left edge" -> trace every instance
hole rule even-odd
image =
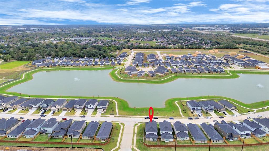
[[[10,149],[6,149],[9,146],[0,146],[0,150],[10,150],[10,151],[17,151],[17,150],[28,150],[28,151],[102,151],[102,149],[90,149],[90,148],[36,148],[36,147],[9,147]]]

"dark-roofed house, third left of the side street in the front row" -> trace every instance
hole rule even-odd
[[[86,121],[74,121],[67,131],[68,138],[79,138],[85,127]]]

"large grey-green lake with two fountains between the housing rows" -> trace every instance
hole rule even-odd
[[[269,100],[269,75],[239,74],[236,79],[178,78],[165,84],[113,81],[112,70],[41,71],[33,79],[7,91],[29,95],[114,96],[131,107],[164,107],[167,99],[225,96],[244,103]]]

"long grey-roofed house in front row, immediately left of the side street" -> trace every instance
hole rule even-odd
[[[96,135],[96,140],[101,142],[108,141],[111,129],[112,129],[112,123],[104,121]]]

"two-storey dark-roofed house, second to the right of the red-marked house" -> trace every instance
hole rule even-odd
[[[185,124],[180,121],[176,121],[173,124],[174,131],[176,133],[176,138],[180,141],[189,140],[188,128]]]

